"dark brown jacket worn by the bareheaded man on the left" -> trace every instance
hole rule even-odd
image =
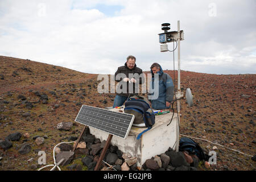
[[[136,83],[123,82],[122,79],[125,77],[121,77],[120,80],[117,79],[118,73],[124,73],[125,77],[130,78],[130,79],[134,77],[137,82]],[[120,89],[122,89],[122,85],[124,85],[124,84],[126,84],[126,86],[127,86],[126,93],[123,93],[123,92],[117,93],[117,95],[119,95],[119,96],[126,96],[126,97],[129,96],[129,85],[133,88],[133,91],[130,92],[131,93],[130,96],[134,96],[135,93],[138,94],[138,92],[139,92],[138,84],[143,84],[143,82],[144,82],[144,79],[142,79],[142,77],[136,77],[136,76],[129,77],[129,73],[131,73],[132,75],[134,73],[138,73],[138,76],[139,76],[142,74],[142,69],[138,68],[136,64],[134,65],[134,67],[132,69],[129,69],[127,67],[126,63],[124,66],[118,67],[117,71],[115,72],[115,81],[117,81],[117,82],[119,82],[119,84],[121,84],[121,86],[119,87]],[[137,92],[135,92],[135,91],[137,91]]]

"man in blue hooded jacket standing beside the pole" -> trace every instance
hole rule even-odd
[[[174,84],[172,78],[167,73],[163,72],[162,67],[158,63],[153,63],[150,67],[152,80],[150,81],[150,93],[148,93],[148,100],[151,102],[153,109],[168,109],[174,97]],[[155,78],[155,74],[158,74],[158,80]],[[157,86],[155,82],[158,82],[158,98],[150,100],[150,96],[157,92],[154,86]]]

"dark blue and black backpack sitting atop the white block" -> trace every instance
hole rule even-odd
[[[130,97],[125,102],[124,111],[135,115],[133,126],[151,128],[155,124],[154,111],[150,108],[149,101],[144,97]]]

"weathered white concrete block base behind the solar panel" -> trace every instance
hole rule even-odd
[[[112,109],[118,111],[120,109]],[[156,115],[155,125],[151,130],[146,131],[140,139],[136,139],[138,134],[146,130],[146,128],[131,127],[130,133],[126,139],[119,138],[113,135],[111,144],[118,146],[118,149],[123,153],[130,156],[137,157],[137,166],[142,167],[142,164],[150,159],[152,156],[162,154],[167,151],[169,147],[176,146],[176,124],[177,114],[174,114],[174,118],[169,126],[173,113]],[[108,133],[93,129],[89,127],[90,133],[99,138],[101,142],[106,140],[109,136]]]

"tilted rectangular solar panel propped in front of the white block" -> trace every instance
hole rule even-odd
[[[133,125],[134,115],[98,107],[82,105],[76,122],[126,139]]]

